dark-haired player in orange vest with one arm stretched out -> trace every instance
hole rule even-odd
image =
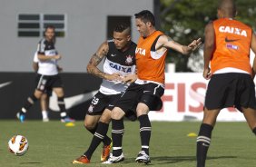
[[[162,108],[161,96],[164,93],[164,67],[168,48],[182,54],[190,54],[201,44],[201,39],[194,40],[188,46],[175,43],[169,36],[156,31],[154,16],[144,10],[135,14],[136,26],[141,37],[136,48],[136,67],[138,79],[132,83],[112,111],[113,154],[107,162],[123,162],[122,137],[124,131],[123,116],[136,109],[140,122],[142,149],[136,162],[149,163],[149,142],[151,123],[149,111]]]

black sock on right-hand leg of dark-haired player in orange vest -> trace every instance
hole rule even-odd
[[[151,123],[147,114],[143,114],[138,117],[140,122],[140,134],[142,151],[149,155],[149,142],[151,137]]]

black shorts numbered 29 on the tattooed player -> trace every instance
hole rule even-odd
[[[113,107],[120,96],[121,93],[111,95],[106,95],[101,92],[96,93],[88,108],[87,114],[101,115],[103,114],[104,109],[113,110]]]

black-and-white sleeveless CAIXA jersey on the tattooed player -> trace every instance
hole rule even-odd
[[[105,74],[119,73],[122,76],[135,74],[135,49],[136,44],[132,43],[130,48],[121,52],[116,49],[113,41],[108,42],[109,52],[103,64],[103,72]],[[124,92],[128,87],[127,83],[103,80],[100,92],[103,94],[117,94]]]

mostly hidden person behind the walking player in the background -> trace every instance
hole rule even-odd
[[[38,71],[38,58],[37,58],[37,52],[34,54],[34,60],[33,60],[33,68],[34,72],[37,73]],[[48,116],[48,104],[49,104],[49,97],[52,95],[52,90],[45,90],[40,98],[40,106],[42,111],[42,117],[43,122],[49,122],[49,116]]]

